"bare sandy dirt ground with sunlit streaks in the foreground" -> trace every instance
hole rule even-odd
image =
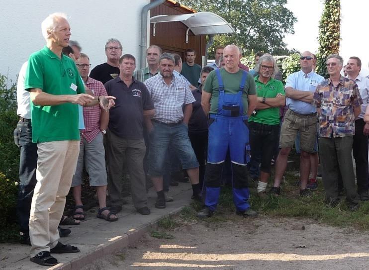
[[[150,233],[84,270],[368,270],[369,234],[307,219],[258,217],[185,223]]]

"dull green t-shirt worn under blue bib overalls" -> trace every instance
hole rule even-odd
[[[224,92],[227,94],[237,94],[240,90],[240,83],[242,79],[243,70],[239,70],[237,73],[229,73],[224,68],[219,69],[220,76],[222,77],[224,84]],[[218,99],[219,99],[219,84],[218,78],[216,77],[215,71],[209,73],[206,78],[204,89],[205,92],[211,93],[210,99],[210,113],[218,112]],[[248,95],[255,94],[255,82],[254,77],[247,73],[247,78],[245,82],[244,91],[242,93],[242,105],[243,105],[243,114],[247,115],[248,108]]]

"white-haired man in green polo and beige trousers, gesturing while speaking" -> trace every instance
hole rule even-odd
[[[58,224],[75,173],[80,149],[78,105],[109,109],[114,97],[85,94],[72,59],[62,54],[71,35],[66,15],[53,13],[42,23],[46,46],[28,60],[24,89],[30,92],[32,141],[37,143],[37,184],[29,218],[31,261],[54,266],[50,253],[80,250],[63,245]]]

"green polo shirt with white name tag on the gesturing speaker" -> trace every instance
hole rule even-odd
[[[46,46],[29,57],[24,89],[32,88],[53,95],[85,93],[73,60],[65,55],[59,59]],[[31,102],[31,119],[34,143],[80,139],[77,104],[36,106]]]

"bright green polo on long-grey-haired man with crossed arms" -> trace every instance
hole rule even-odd
[[[271,78],[265,85],[259,81],[259,75],[255,77],[256,94],[262,97],[276,97],[278,93],[284,95],[283,84]],[[255,116],[250,116],[249,122],[257,122],[266,125],[278,125],[279,124],[279,107],[268,108],[264,110],[258,110]]]

